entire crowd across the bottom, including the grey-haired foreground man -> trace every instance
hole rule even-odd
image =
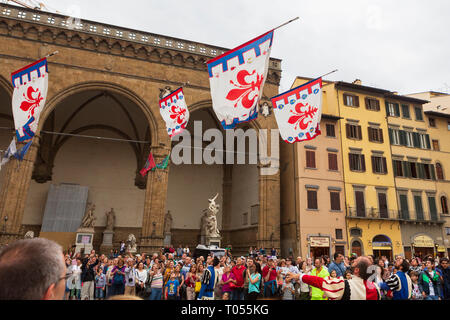
[[[173,248],[172,248],[173,249]],[[449,300],[448,258],[281,258],[275,249],[244,256],[195,256],[189,248],[147,255],[62,252],[46,239],[0,250],[0,299],[102,300]],[[62,254],[63,253],[63,254]],[[65,265],[64,265],[64,263]],[[31,268],[36,270],[28,272]]]

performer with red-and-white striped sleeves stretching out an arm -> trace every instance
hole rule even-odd
[[[319,288],[330,300],[381,300],[380,289],[368,280],[370,260],[359,257],[352,263],[353,276],[350,280],[342,277],[323,279],[316,276],[288,273],[286,281],[300,280],[310,286]],[[375,270],[374,270],[375,272]]]

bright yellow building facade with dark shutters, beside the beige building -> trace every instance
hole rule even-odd
[[[392,259],[404,251],[384,108],[390,94],[360,81],[336,82],[328,101],[342,118],[349,252]]]

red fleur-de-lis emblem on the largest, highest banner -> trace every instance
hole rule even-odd
[[[252,81],[251,83],[248,83],[245,78],[254,75],[255,73],[256,70],[253,70],[252,73],[249,73],[247,70],[242,70],[237,74],[237,84],[233,80],[230,80],[230,83],[237,89],[231,89],[226,98],[230,101],[236,101],[234,104],[235,108],[237,108],[239,102],[247,109],[250,109],[253,106],[255,99],[259,95],[264,76],[256,73],[256,81]],[[255,91],[257,94],[250,100],[250,94]]]

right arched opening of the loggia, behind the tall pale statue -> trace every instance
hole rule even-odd
[[[248,132],[250,124],[241,128]],[[232,130],[228,130],[232,131]],[[215,133],[214,133],[215,132]],[[257,143],[257,133],[255,138]],[[214,138],[207,138],[209,134]],[[188,136],[189,135],[189,136]],[[216,139],[216,135],[218,139]],[[249,246],[256,246],[259,218],[259,174],[257,164],[249,164],[249,141],[245,143],[245,164],[237,164],[238,143],[234,143],[234,164],[227,164],[225,153],[222,164],[208,164],[204,158],[206,148],[215,143],[217,149],[225,150],[226,132],[218,122],[210,104],[201,108],[190,107],[189,124],[182,137],[172,144],[172,160],[177,153],[176,145],[190,139],[190,163],[171,163],[166,208],[170,211],[173,224],[171,243],[175,247],[188,245],[191,248],[204,242],[201,221],[208,209],[208,199],[219,194],[216,203],[220,205],[218,228],[222,237],[221,245],[232,245],[233,253],[247,252]],[[202,138],[203,137],[203,138]],[[208,152],[209,153],[209,152]],[[184,155],[184,150],[183,153]],[[216,153],[212,153],[213,157]],[[188,183],[187,183],[188,182]]]

